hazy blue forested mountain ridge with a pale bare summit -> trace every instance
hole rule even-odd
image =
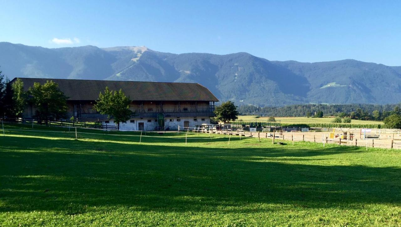
[[[147,47],[48,49],[0,42],[0,66],[14,77],[200,83],[237,105],[401,102],[401,67],[352,59],[301,63],[248,53],[172,54]]]

